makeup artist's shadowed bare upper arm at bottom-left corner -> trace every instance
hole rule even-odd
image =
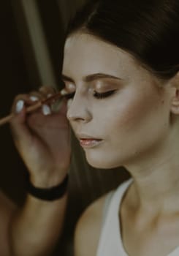
[[[0,255],[9,255],[9,227],[17,206],[0,191]]]

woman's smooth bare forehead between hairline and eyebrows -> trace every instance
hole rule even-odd
[[[96,72],[116,75],[116,72],[129,71],[134,65],[134,59],[129,53],[90,34],[72,34],[66,39],[64,75],[74,77],[77,74]]]

